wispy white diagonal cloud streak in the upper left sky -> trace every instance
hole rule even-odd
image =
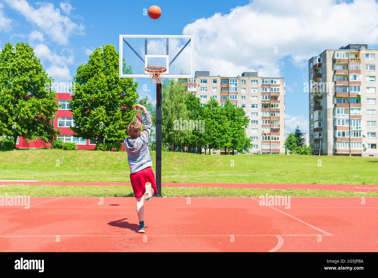
[[[52,3],[38,2],[39,8],[34,8],[26,0],[5,0],[5,2],[23,15],[26,20],[38,26],[47,37],[59,44],[68,44],[71,34],[82,34],[84,30],[81,24],[72,22],[65,15],[57,14]]]

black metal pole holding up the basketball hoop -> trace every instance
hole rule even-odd
[[[161,195],[161,83],[156,84],[156,189],[155,197]]]

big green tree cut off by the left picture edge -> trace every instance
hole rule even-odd
[[[48,77],[27,43],[6,43],[0,53],[0,135],[51,143],[59,134],[51,124],[59,105]]]

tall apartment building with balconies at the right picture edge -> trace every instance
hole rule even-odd
[[[313,154],[378,157],[377,54],[350,44],[308,60]]]

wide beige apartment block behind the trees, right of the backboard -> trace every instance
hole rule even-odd
[[[283,78],[258,77],[257,72],[242,76],[210,76],[209,71],[196,71],[194,78],[183,81],[187,90],[205,105],[211,97],[225,105],[244,108],[249,117],[247,136],[253,140],[250,153],[285,153],[285,82]],[[206,128],[206,127],[205,127]]]

